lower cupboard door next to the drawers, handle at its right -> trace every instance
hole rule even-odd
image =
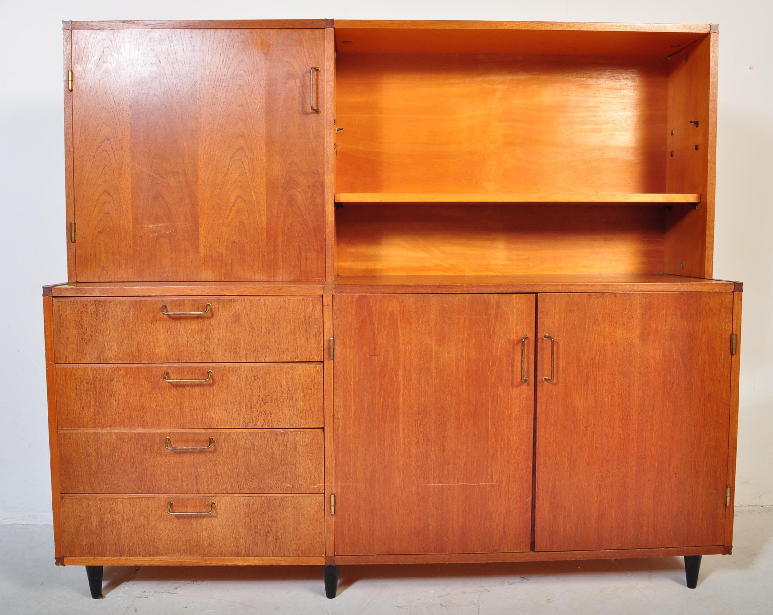
[[[528,551],[534,295],[337,295],[333,314],[336,554]]]

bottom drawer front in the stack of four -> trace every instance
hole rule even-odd
[[[173,512],[212,512],[169,515],[169,502]],[[325,555],[322,494],[65,495],[61,518],[66,557]]]

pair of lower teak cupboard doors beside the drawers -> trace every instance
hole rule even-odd
[[[333,311],[336,554],[723,544],[731,293]]]

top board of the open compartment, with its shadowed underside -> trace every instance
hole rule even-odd
[[[512,53],[654,56],[687,46],[710,25],[580,22],[450,22],[339,19],[336,48],[353,53]],[[351,43],[344,43],[348,40]]]

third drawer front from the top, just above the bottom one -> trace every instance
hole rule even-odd
[[[62,431],[59,457],[62,493],[324,491],[322,430]]]

